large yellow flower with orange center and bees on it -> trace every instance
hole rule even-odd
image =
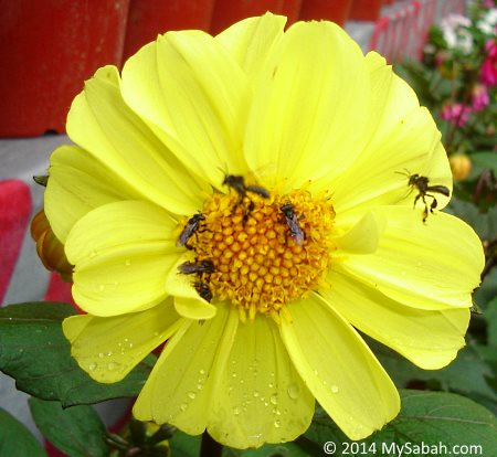
[[[284,24],[169,32],[97,71],[45,193],[81,366],[115,382],[167,341],[135,416],[237,448],[294,439],[315,400],[352,439],[381,428],[399,395],[358,330],[444,366],[483,268],[469,226],[423,222],[448,198],[401,174],[452,189],[413,91],[339,26]]]

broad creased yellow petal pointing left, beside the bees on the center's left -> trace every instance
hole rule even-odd
[[[115,316],[162,301],[179,256],[175,226],[162,209],[145,202],[109,203],[87,213],[65,246],[75,265],[76,302],[95,316]]]

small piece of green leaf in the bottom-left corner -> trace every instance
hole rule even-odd
[[[31,432],[0,407],[0,456],[46,457]]]

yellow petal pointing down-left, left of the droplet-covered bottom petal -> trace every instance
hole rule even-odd
[[[225,370],[237,320],[236,310],[220,306],[214,319],[187,321],[154,366],[133,410],[135,417],[201,434],[212,414],[212,393]]]

